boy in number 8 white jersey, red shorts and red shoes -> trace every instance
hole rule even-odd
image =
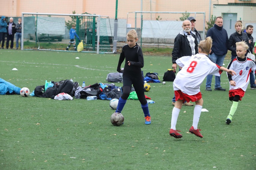
[[[207,37],[206,40],[200,41],[198,46],[198,54],[192,56],[184,56],[176,60],[176,63],[182,69],[178,72],[173,82],[176,103],[172,110],[171,129],[169,134],[175,138],[182,137],[182,135],[178,133],[180,130],[176,130],[176,123],[182,107],[182,103],[185,100],[187,102],[196,102],[196,106],[194,108],[193,125],[189,129],[189,132],[200,138],[203,137],[199,132],[201,129],[197,129],[197,125],[199,122],[201,110],[203,108],[203,99],[200,92],[200,85],[203,83],[203,80],[206,78],[206,76],[209,74],[220,76],[220,70],[229,72],[231,75],[236,74],[233,70],[218,66],[209,59],[207,55],[211,52],[211,48],[212,38]],[[184,80],[186,83],[184,83]]]

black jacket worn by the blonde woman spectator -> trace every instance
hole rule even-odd
[[[249,44],[249,38],[245,32],[242,32],[241,34],[235,32],[230,35],[227,49],[231,51],[231,55],[236,56],[236,42],[240,41],[245,41],[247,44]]]

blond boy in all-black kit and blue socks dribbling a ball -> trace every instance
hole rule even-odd
[[[145,124],[149,125],[151,124],[151,116],[148,111],[148,102],[144,94],[144,80],[141,74],[144,60],[142,49],[136,43],[138,41],[137,32],[135,30],[129,31],[126,35],[126,39],[128,44],[122,47],[122,52],[117,65],[117,72],[121,72],[121,64],[125,59],[123,69],[123,94],[119,98],[116,112],[121,113],[123,110],[133,84],[145,116]]]

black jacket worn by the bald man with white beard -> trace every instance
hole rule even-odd
[[[190,31],[192,36],[195,39],[195,50],[198,53],[198,44],[197,44],[197,37],[193,31]],[[174,39],[174,47],[172,50],[172,63],[176,63],[176,60],[183,56],[191,56],[192,51],[187,40],[187,37],[184,35],[184,31],[181,30],[180,33]]]

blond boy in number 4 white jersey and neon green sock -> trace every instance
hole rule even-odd
[[[244,41],[236,42],[237,56],[227,66],[228,69],[233,69],[239,73],[232,77],[227,73],[227,77],[230,83],[229,100],[233,101],[226,120],[228,125],[231,123],[232,117],[236,112],[238,101],[242,100],[242,97],[245,95],[245,91],[250,81],[250,72],[254,72],[256,69],[254,61],[245,56],[246,50],[248,48],[248,45]],[[256,84],[256,80],[254,83]]]

